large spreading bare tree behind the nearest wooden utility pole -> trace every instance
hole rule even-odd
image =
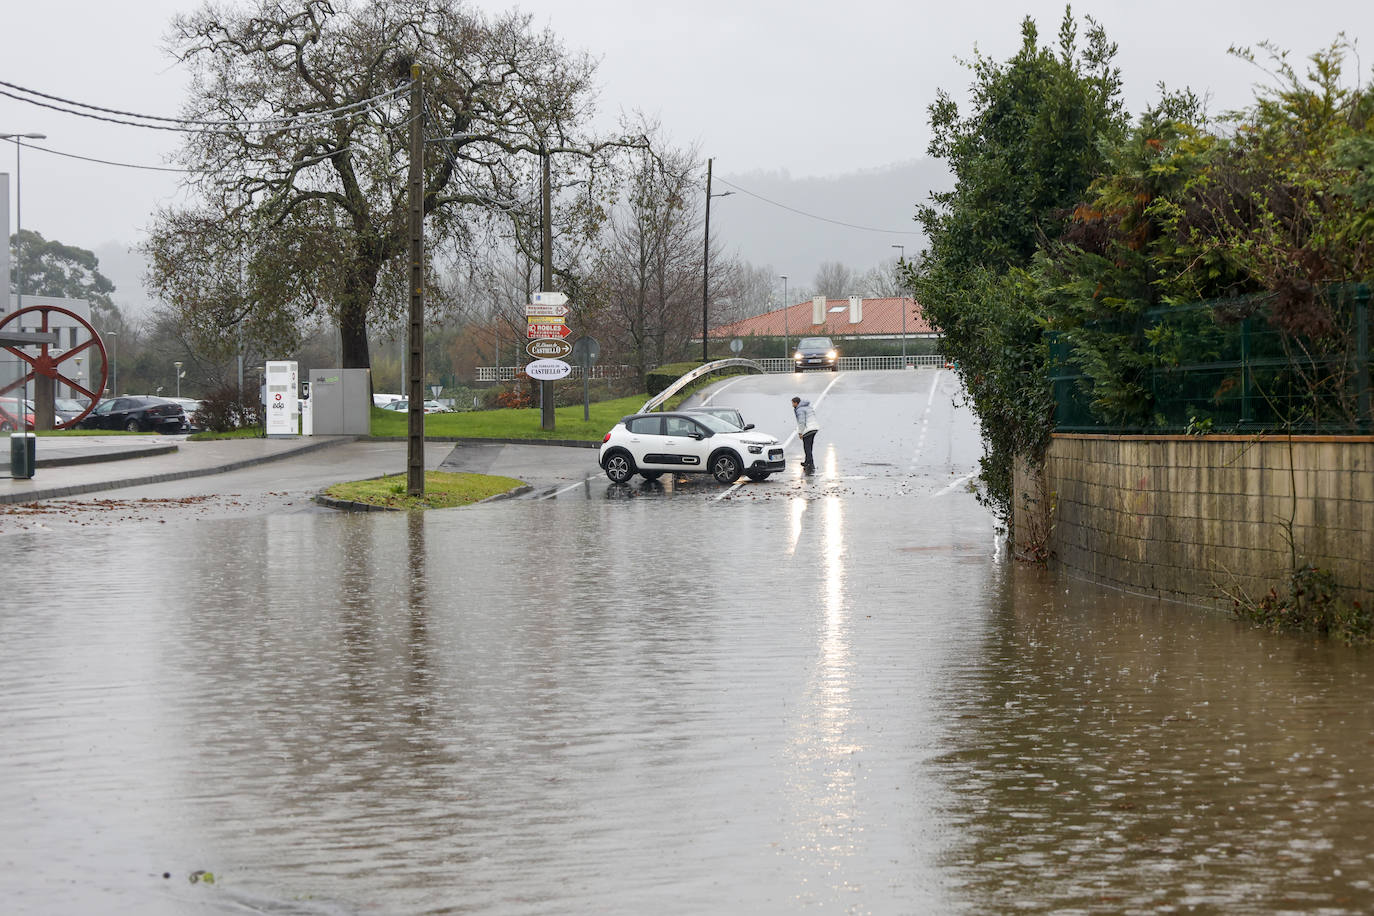
[[[594,62],[530,18],[488,19],[462,0],[257,0],[173,23],[192,74],[181,158],[196,205],[166,210],[146,246],[151,287],[205,346],[239,328],[290,341],[317,316],[344,367],[367,367],[370,321],[408,301],[407,136],[423,119],[427,240],[464,246],[482,218],[525,250],[541,161],[580,195],[566,220],[599,225]],[[420,65],[425,110],[405,91]]]

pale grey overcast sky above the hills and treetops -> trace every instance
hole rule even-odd
[[[184,74],[164,54],[162,41],[170,16],[196,5],[191,0],[8,3],[0,14],[0,80],[109,108],[174,115]],[[1004,59],[1018,45],[1025,15],[1051,43],[1063,15],[1062,3],[1039,0],[478,0],[477,5],[488,11],[518,5],[569,48],[599,58],[599,106],[607,124],[622,110],[657,115],[679,146],[698,144],[702,155],[714,158],[716,176],[745,187],[760,172],[833,177],[925,157],[926,104],[937,88],[959,96],[970,81],[956,58],[977,47]],[[1132,111],[1156,96],[1160,81],[1209,93],[1215,111],[1246,104],[1253,84],[1264,77],[1228,56],[1231,44],[1272,40],[1305,58],[1345,32],[1366,43],[1366,84],[1374,62],[1371,0],[1098,0],[1074,4],[1074,14],[1102,22],[1120,45]],[[177,141],[176,133],[109,125],[0,96],[0,133],[8,132],[45,133],[34,143],[143,166],[166,165]],[[14,144],[0,144],[0,172],[14,170]],[[38,150],[22,154],[21,177],[23,227],[88,249],[136,243],[150,214],[174,201],[177,188],[172,173]],[[911,206],[923,195],[907,188],[893,194],[910,201],[903,201],[901,220],[893,220],[900,224],[892,229],[910,231]],[[783,203],[813,209],[808,201]],[[855,220],[844,211],[820,216]],[[746,239],[732,242],[749,257]]]

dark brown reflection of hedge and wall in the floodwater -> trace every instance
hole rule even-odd
[[[977,908],[1370,912],[1364,661],[1063,585],[1011,570],[944,702]]]

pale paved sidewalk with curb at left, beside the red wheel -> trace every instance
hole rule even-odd
[[[0,504],[34,503],[125,486],[181,481],[316,452],[352,435],[293,439],[212,439],[179,435],[47,437],[36,441],[30,479],[0,478]]]

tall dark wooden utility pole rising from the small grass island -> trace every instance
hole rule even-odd
[[[407,339],[411,378],[405,449],[405,492],[425,496],[425,91],[420,65],[411,65],[411,328]]]

